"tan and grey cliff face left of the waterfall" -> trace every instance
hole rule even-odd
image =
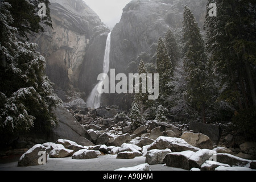
[[[53,29],[46,27],[46,32],[32,42],[39,44],[39,52],[46,57],[46,72],[51,81],[61,89],[77,88],[81,72],[89,71],[93,67],[89,64],[85,70],[82,66],[85,63],[95,64],[93,61],[96,59],[93,60],[93,57],[104,56],[105,47],[102,45],[105,45],[106,38],[101,34],[109,32],[109,29],[82,0],[50,2]],[[100,44],[94,46],[94,42]],[[97,55],[89,56],[88,51],[92,47],[99,51]]]

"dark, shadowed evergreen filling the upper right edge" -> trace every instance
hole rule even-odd
[[[206,16],[206,45],[221,81],[220,100],[240,110],[248,109],[256,106],[255,1],[214,2],[217,17]]]

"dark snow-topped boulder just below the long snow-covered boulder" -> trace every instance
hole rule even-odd
[[[166,163],[168,167],[176,167],[185,170],[189,170],[188,159],[194,155],[193,151],[183,151],[183,152],[172,152],[171,154],[167,154],[163,159],[163,162]]]

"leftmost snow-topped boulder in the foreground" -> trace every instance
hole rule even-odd
[[[18,162],[18,167],[26,167],[26,166],[38,166],[40,165],[38,160],[41,157],[39,152],[46,152],[46,147],[42,144],[36,144],[26,153],[24,153]],[[46,155],[47,158],[47,155]],[[47,160],[46,160],[47,161]]]

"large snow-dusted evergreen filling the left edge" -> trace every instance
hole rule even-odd
[[[60,102],[44,75],[46,60],[34,43],[22,43],[11,27],[10,4],[0,5],[0,130],[2,139],[57,124],[53,107]]]

